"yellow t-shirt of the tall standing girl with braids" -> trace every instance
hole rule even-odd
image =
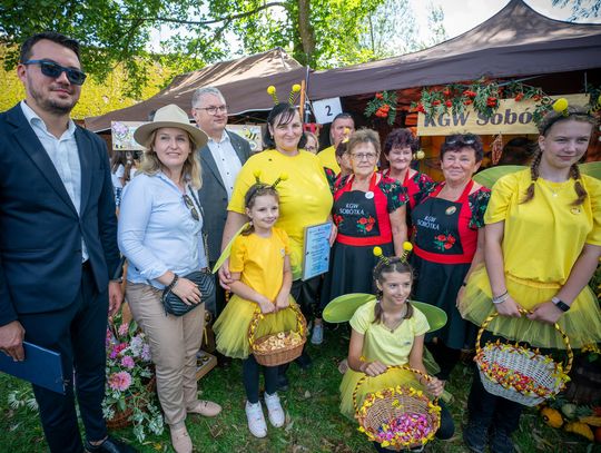
[[[588,193],[577,199],[574,180],[551,183],[539,177],[534,198],[521,204],[530,186],[530,169],[499,179],[484,221],[505,221],[505,273],[519,278],[563,285],[584,244],[601,245],[601,181],[582,175]]]

